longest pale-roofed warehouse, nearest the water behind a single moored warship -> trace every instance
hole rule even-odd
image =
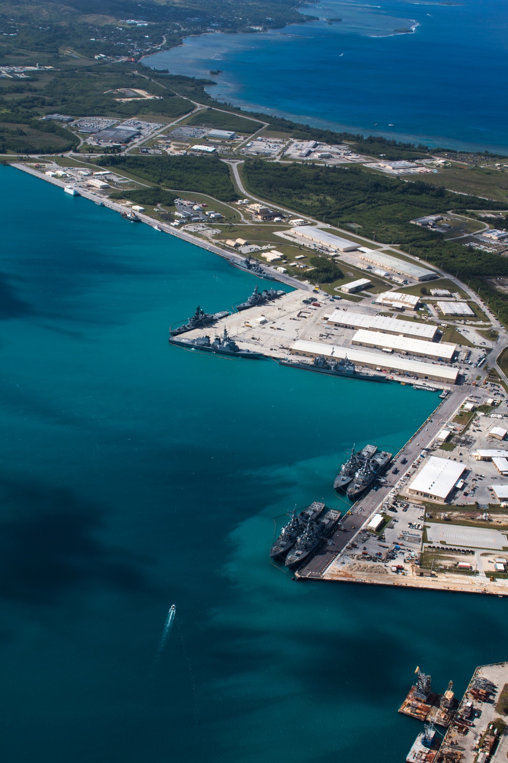
[[[432,381],[446,381],[447,384],[455,384],[458,375],[458,369],[450,368],[448,365],[434,365],[421,360],[383,356],[381,353],[368,353],[364,349],[341,347],[324,342],[298,340],[292,345],[290,352],[293,355],[302,355],[308,358],[317,358],[323,355],[325,358],[333,356],[334,359],[339,360],[347,357],[356,365],[363,365],[369,369],[386,369],[388,372],[398,375],[417,376]]]

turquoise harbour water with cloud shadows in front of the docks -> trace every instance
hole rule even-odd
[[[0,204],[2,759],[403,761],[414,668],[460,692],[506,659],[506,598],[295,583],[268,549],[436,395],[169,346],[254,277],[16,169]]]

